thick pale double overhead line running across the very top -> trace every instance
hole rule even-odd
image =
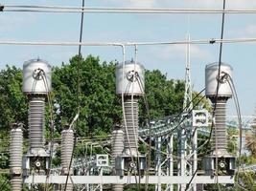
[[[102,7],[62,7],[62,6],[15,6],[2,5],[1,11],[20,12],[86,12],[86,13],[256,13],[256,9],[166,9],[166,8],[102,8]]]

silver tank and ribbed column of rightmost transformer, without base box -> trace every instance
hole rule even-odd
[[[232,96],[232,90],[227,80],[232,77],[233,69],[230,65],[221,63],[219,77],[219,63],[206,65],[205,95],[209,97],[215,108],[215,129],[213,131],[213,150],[218,156],[226,155],[226,126],[225,110],[227,99]],[[219,77],[219,78],[218,78]],[[219,90],[217,90],[219,88]]]

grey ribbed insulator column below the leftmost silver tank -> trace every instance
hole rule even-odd
[[[32,97],[29,103],[30,148],[43,148],[45,98]]]

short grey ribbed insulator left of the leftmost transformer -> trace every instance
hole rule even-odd
[[[20,169],[22,167],[22,129],[21,127],[12,128],[11,130],[11,145],[10,145],[10,167]],[[19,174],[14,173],[13,174]]]

